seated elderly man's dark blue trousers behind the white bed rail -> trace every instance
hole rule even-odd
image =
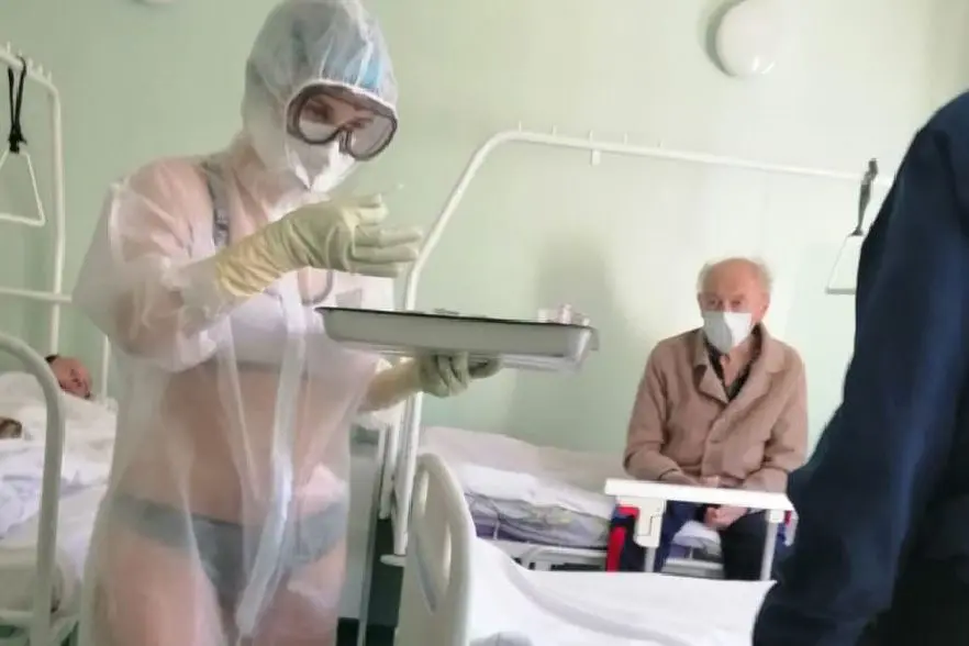
[[[669,501],[662,513],[662,527],[659,532],[659,546],[656,548],[656,571],[661,571],[672,548],[676,535],[690,521],[703,521],[708,505],[690,502]],[[631,523],[635,525],[635,521]],[[783,526],[779,536],[775,558],[784,548]],[[760,579],[760,561],[764,543],[767,538],[767,517],[764,512],[750,513],[737,519],[734,524],[720,531],[720,548],[723,555],[724,579],[734,581],[756,581]],[[622,571],[642,572],[646,564],[646,550],[627,534],[626,544],[620,557]]]

